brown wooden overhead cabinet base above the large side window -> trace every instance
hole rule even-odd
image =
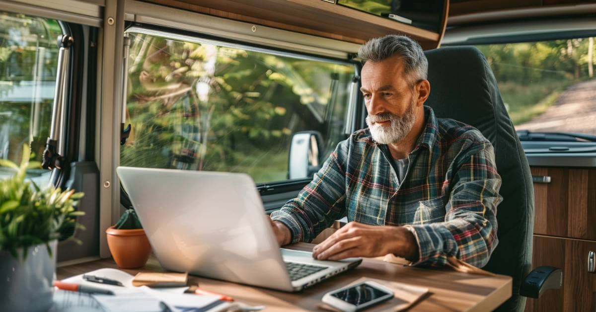
[[[170,7],[363,44],[390,33],[409,35],[424,50],[438,47],[445,31],[449,1],[444,2],[440,32],[431,32],[321,0],[144,0]]]

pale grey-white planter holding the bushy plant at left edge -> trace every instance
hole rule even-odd
[[[29,247],[25,261],[22,251],[18,251],[18,260],[10,252],[0,251],[0,310],[36,312],[52,307],[57,243],[49,243],[52,257],[45,244]]]

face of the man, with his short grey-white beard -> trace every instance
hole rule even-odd
[[[416,121],[417,95],[408,79],[399,57],[368,61],[362,67],[366,121],[373,140],[380,144],[403,140]]]

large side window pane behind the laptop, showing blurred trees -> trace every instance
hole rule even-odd
[[[165,33],[129,37],[123,166],[281,181],[294,133],[320,132],[319,161],[346,137],[353,64]]]

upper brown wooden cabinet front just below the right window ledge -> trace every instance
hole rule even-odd
[[[532,167],[534,234],[596,240],[596,169]]]

